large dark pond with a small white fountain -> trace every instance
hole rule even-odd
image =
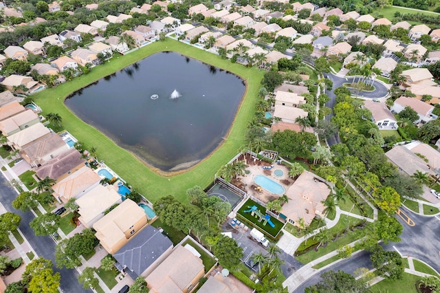
[[[179,97],[171,98],[175,90]],[[244,92],[243,80],[230,72],[162,52],[81,89],[65,104],[148,164],[177,171],[222,142]]]

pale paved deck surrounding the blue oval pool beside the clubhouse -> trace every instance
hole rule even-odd
[[[289,186],[294,184],[294,180],[289,177],[289,169],[286,166],[274,163],[274,168],[267,170],[263,169],[262,166],[265,166],[265,164],[268,163],[261,162],[261,165],[258,165],[258,163],[259,161],[257,160],[255,164],[248,164],[248,168],[246,168],[246,170],[250,171],[250,174],[239,176],[239,180],[243,182],[243,189],[246,193],[248,193],[248,195],[252,195],[253,197],[260,199],[261,202],[265,203],[281,196],[270,193],[264,188],[261,188],[261,191],[256,191],[255,187],[257,184],[254,182],[255,175],[265,175],[269,177],[270,179],[274,180],[274,182],[281,184],[286,191]],[[283,171],[283,176],[278,177],[274,175],[275,170]]]

